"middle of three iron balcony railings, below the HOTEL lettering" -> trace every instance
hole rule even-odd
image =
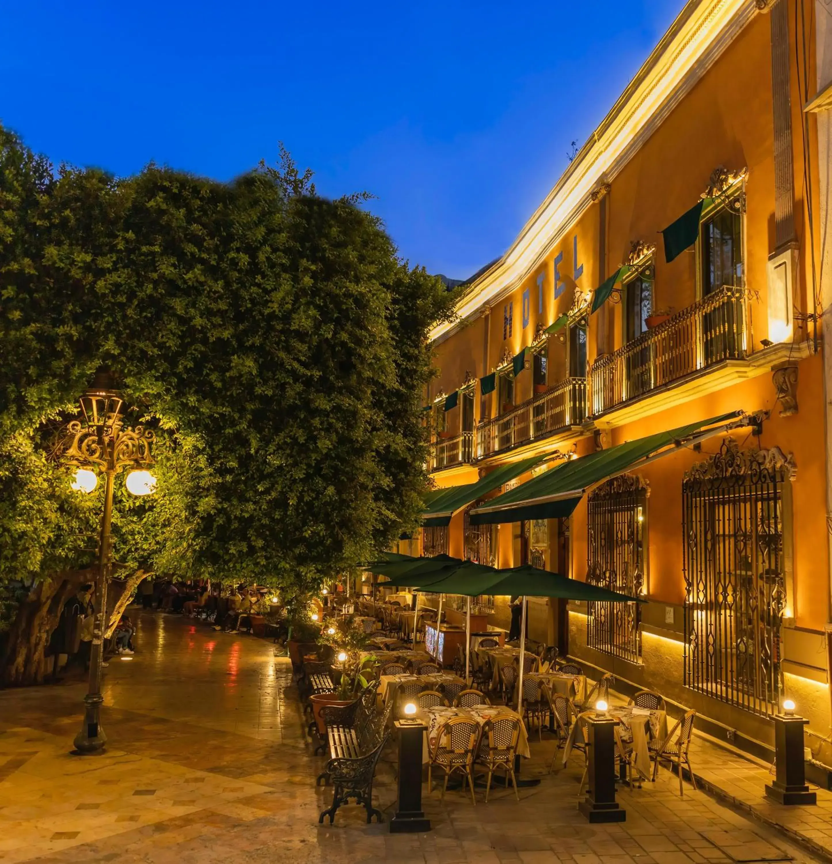
[[[477,427],[477,458],[565,432],[582,423],[586,414],[587,379],[566,378],[517,408],[481,422]]]

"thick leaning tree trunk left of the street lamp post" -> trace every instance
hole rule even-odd
[[[48,575],[29,591],[3,639],[0,653],[0,683],[6,686],[42,683],[52,658],[45,651],[64,604],[78,594],[95,570],[68,570]]]

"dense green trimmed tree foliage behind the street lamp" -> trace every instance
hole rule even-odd
[[[9,467],[29,442],[52,477],[29,506],[54,511],[44,423],[108,366],[161,435],[152,504],[118,502],[119,560],[314,587],[416,524],[427,334],[453,299],[365,198],[321,198],[283,151],[230,184],[117,180],[54,172],[0,130],[0,479],[29,494]],[[0,580],[82,566],[57,524],[91,509],[69,501],[35,536],[0,507]]]

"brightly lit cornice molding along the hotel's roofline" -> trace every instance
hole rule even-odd
[[[539,267],[592,204],[600,185],[613,181],[757,14],[757,0],[689,0],[509,250],[462,297],[458,320],[435,327],[430,339],[447,339]]]

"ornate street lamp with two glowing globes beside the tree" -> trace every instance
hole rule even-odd
[[[101,661],[106,631],[107,581],[110,579],[112,492],[116,474],[131,468],[126,486],[134,495],[153,492],[156,480],[147,470],[153,464],[150,445],[156,437],[152,430],[122,426],[124,404],[110,372],[96,372],[92,387],[80,398],[82,420],[67,424],[68,446],[63,457],[78,467],[73,489],[92,492],[98,485],[98,473],[104,475],[104,511],[98,541],[98,576],[95,582],[95,618],[90,651],[90,683],[84,697],[84,723],[75,736],[75,753],[99,753],[107,737],[101,727]]]

